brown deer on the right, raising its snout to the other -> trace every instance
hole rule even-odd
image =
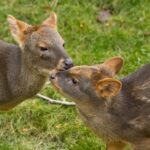
[[[51,75],[54,87],[75,101],[85,124],[107,150],[150,150],[150,64],[117,80],[123,60],[114,57],[95,66],[76,66]]]

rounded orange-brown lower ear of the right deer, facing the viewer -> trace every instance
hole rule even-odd
[[[119,93],[121,87],[122,84],[119,80],[105,78],[98,81],[96,84],[96,91],[101,97],[109,98],[116,96]]]

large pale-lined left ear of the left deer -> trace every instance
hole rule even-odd
[[[27,23],[17,20],[15,17],[8,15],[7,17],[10,31],[16,42],[22,47],[22,44],[25,40],[25,31],[27,31],[28,25]]]

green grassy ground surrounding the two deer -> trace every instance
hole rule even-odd
[[[106,24],[96,21],[101,8],[112,10]],[[149,0],[5,0],[0,1],[0,38],[14,42],[6,16],[12,14],[32,24],[40,23],[51,10],[66,49],[76,64],[94,64],[121,55],[125,66],[119,77],[149,62]],[[61,98],[52,87],[42,91]],[[76,109],[48,105],[33,99],[9,112],[0,113],[0,150],[105,150],[105,144],[78,118]]]

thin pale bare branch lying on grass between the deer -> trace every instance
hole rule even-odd
[[[75,103],[73,102],[66,102],[66,101],[61,101],[61,100],[54,100],[54,99],[51,99],[47,96],[44,96],[42,94],[37,94],[36,95],[38,98],[41,98],[41,99],[44,99],[44,100],[47,100],[50,104],[58,104],[58,105],[66,105],[66,106],[75,106]]]

